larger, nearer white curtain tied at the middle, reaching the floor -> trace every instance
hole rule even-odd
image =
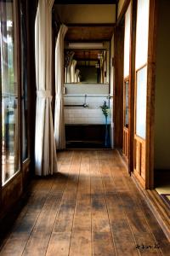
[[[54,125],[51,108],[52,7],[54,0],[39,0],[35,25],[37,111],[36,174],[57,172]]]

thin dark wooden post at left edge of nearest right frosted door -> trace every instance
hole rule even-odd
[[[129,67],[129,152],[128,172],[133,172],[134,166],[134,88],[135,88],[135,53],[136,53],[136,20],[137,1],[131,1],[131,26],[130,26],[130,67]]]

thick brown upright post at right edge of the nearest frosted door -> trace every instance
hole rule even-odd
[[[154,189],[154,124],[158,1],[150,0],[146,111],[146,189]]]

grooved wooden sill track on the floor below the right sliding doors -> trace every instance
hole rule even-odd
[[[150,207],[151,212],[153,212],[158,223],[161,225],[161,229],[167,236],[168,241],[170,241],[170,212],[167,205],[161,200],[160,195],[155,189],[144,189],[139,183],[137,177],[132,173],[133,182],[139,189],[141,195],[143,195],[144,200]]]

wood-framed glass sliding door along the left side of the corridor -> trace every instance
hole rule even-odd
[[[28,180],[28,20],[26,0],[0,1],[0,216]]]

